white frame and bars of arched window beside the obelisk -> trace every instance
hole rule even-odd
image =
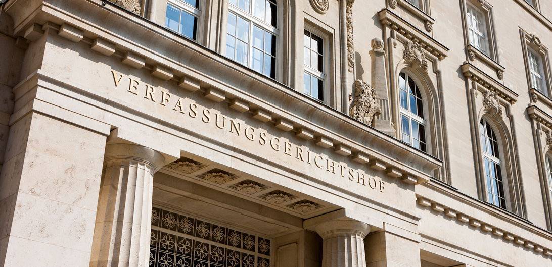
[[[401,75],[404,74],[405,75],[405,88],[402,88],[401,86]],[[409,79],[408,78],[411,78],[413,83],[415,84],[415,88],[417,89],[417,92],[415,90],[415,94],[416,95],[412,95],[416,100],[420,100],[421,104],[422,104],[422,108],[421,109],[418,109],[418,105],[420,104],[419,102],[416,102],[416,113],[413,113],[411,111],[411,107],[412,107],[412,103],[411,103],[411,94],[410,92],[408,92],[408,90],[404,90],[404,89],[407,89],[407,84],[408,84],[408,81]],[[407,108],[405,109],[404,108],[404,99],[403,99],[403,93],[402,92],[405,92],[406,93],[406,106]],[[425,93],[425,90],[424,88],[422,87],[422,83],[418,80],[418,78],[416,77],[415,74],[413,74],[413,72],[411,71],[408,71],[406,69],[404,70],[401,70],[400,73],[399,73],[399,76],[397,77],[397,101],[399,103],[399,113],[400,113],[400,116],[399,116],[399,124],[397,125],[400,125],[399,129],[399,139],[402,140],[403,142],[406,142],[408,143],[408,145],[412,146],[412,147],[415,147],[417,149],[420,149],[421,151],[423,152],[431,152],[431,142],[429,142],[429,140],[431,140],[431,138],[429,138],[429,132],[428,130],[431,130],[431,129],[428,129],[430,126],[429,126],[429,123],[428,123],[428,120],[429,120],[429,112],[428,112],[428,102],[427,102],[427,97],[426,97],[426,93]],[[420,116],[420,113],[422,116]],[[405,122],[404,119],[407,119],[407,122],[408,122],[408,125],[406,126],[405,125]],[[418,126],[418,141],[421,143],[422,142],[422,139],[424,140],[424,145],[425,145],[425,148],[423,149],[422,145],[416,147],[415,145],[415,138],[414,138],[414,135],[413,135],[413,121],[415,123],[417,123],[418,125],[422,125],[423,126],[423,131],[420,131],[420,127]],[[407,134],[405,132],[405,130],[408,130],[408,133],[410,134]],[[423,138],[422,138],[422,134],[423,134]],[[405,138],[408,138],[410,140],[405,140]]]

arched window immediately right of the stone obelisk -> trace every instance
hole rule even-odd
[[[420,88],[406,72],[399,74],[401,140],[427,152],[424,98]]]

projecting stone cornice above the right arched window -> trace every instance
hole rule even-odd
[[[508,87],[504,86],[502,83],[499,83],[491,76],[479,70],[469,62],[465,62],[460,66],[464,77],[470,77],[475,82],[480,84],[482,87],[485,87],[491,90],[493,93],[498,94],[502,99],[506,100],[510,104],[517,102],[518,94],[510,90]]]

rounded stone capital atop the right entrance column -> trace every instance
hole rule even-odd
[[[340,218],[337,220],[320,223],[316,226],[316,232],[320,234],[322,239],[336,237],[339,234],[359,234],[362,238],[370,232],[370,225],[365,222],[360,222],[348,218]]]

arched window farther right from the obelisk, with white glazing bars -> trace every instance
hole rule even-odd
[[[481,146],[483,148],[483,161],[485,163],[485,181],[488,201],[496,206],[506,209],[505,180],[502,172],[502,158],[500,153],[500,141],[489,122],[481,119],[479,124],[481,132]]]

